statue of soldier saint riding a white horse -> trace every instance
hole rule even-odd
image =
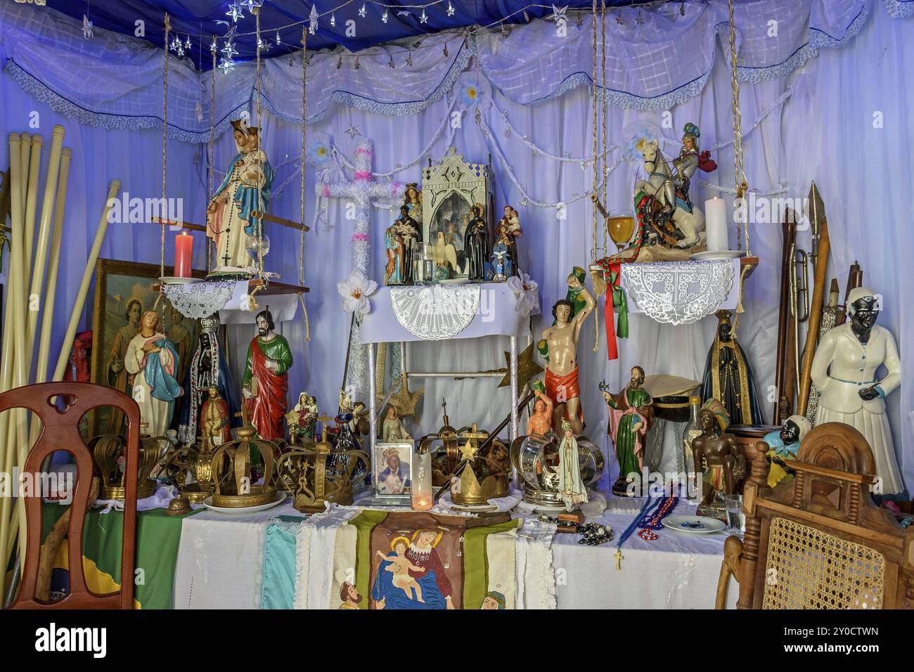
[[[705,214],[692,205],[688,189],[697,168],[710,172],[717,164],[707,152],[698,154],[698,127],[685,124],[683,148],[673,161],[673,170],[656,140],[641,140],[646,180],[634,187],[634,208],[649,233],[665,247],[688,248],[705,241]]]

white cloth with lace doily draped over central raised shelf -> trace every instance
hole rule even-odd
[[[378,287],[362,319],[362,343],[523,336],[530,314],[507,283]],[[533,313],[539,311],[538,303]]]

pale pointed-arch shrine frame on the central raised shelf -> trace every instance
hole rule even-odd
[[[422,171],[422,240],[432,246],[453,245],[457,268],[452,269],[452,278],[477,279],[467,229],[482,222],[485,237],[492,240],[492,189],[490,166],[465,162],[455,147],[439,163],[430,160]]]

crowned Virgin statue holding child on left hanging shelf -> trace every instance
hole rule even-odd
[[[258,232],[252,213],[266,210],[273,184],[273,169],[260,149],[260,129],[244,120],[231,124],[238,154],[207,208],[207,236],[216,243],[218,271],[244,271],[254,265],[248,252],[248,237]]]

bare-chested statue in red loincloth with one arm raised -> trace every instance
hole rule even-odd
[[[569,286],[572,283],[580,284],[574,273],[569,275]],[[560,299],[552,306],[556,324],[543,332],[538,347],[540,353],[547,357],[546,393],[554,404],[552,425],[558,427],[561,419],[567,418],[576,435],[584,432],[584,411],[580,407],[578,382],[578,337],[581,325],[594,307],[587,287],[580,285],[578,296],[582,306],[573,316],[567,299]]]

